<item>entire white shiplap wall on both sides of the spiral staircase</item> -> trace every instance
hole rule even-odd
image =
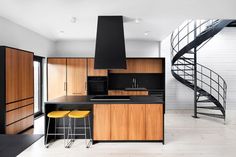
[[[171,74],[170,37],[161,42],[166,57],[166,106],[168,109],[193,108],[193,91]],[[199,52],[198,62],[220,74],[227,82],[227,108],[236,109],[236,28],[224,28]]]

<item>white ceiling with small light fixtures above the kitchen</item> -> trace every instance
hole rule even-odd
[[[123,15],[141,19],[125,22],[126,39],[159,41],[185,19],[236,19],[235,6],[235,0],[0,0],[0,16],[52,40],[83,40],[96,38],[98,15]]]

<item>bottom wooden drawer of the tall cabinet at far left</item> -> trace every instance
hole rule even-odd
[[[34,116],[27,117],[16,123],[6,126],[6,134],[17,134],[34,124]]]

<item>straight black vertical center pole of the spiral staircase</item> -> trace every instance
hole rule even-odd
[[[197,23],[194,21],[194,39],[197,37]],[[197,117],[197,47],[194,47],[194,115]]]

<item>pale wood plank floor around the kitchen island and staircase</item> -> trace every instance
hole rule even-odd
[[[236,111],[227,111],[227,121],[201,116],[191,117],[192,111],[169,110],[165,115],[166,144],[161,143],[99,143],[86,149],[83,140],[65,149],[63,141],[50,148],[43,138],[22,152],[19,157],[235,157]],[[37,124],[37,122],[36,122]],[[40,125],[42,124],[42,120]],[[35,126],[37,128],[37,126]],[[37,130],[37,131],[36,131]],[[34,133],[43,132],[37,128]]]

